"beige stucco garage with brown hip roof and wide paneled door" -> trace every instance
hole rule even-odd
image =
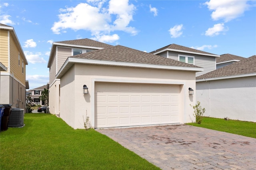
[[[92,128],[195,121],[188,89],[202,70],[121,45],[68,57],[56,75],[60,118],[75,129],[84,128],[86,114]]]

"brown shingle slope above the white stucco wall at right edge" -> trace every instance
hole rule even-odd
[[[256,73],[256,55],[196,77],[196,80]]]

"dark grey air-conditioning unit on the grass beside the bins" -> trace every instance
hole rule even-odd
[[[12,108],[9,116],[8,127],[23,127],[24,126],[24,109]]]

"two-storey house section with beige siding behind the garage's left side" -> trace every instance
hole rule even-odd
[[[54,42],[52,44],[52,49],[47,66],[50,72],[50,113],[56,115],[60,113],[60,79],[56,78],[56,74],[58,73],[66,59],[72,55],[78,55],[106,47],[112,47],[112,45],[97,42],[87,38],[81,40]]]

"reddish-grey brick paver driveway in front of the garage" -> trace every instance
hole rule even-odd
[[[189,125],[96,130],[163,170],[256,169],[256,138]]]

